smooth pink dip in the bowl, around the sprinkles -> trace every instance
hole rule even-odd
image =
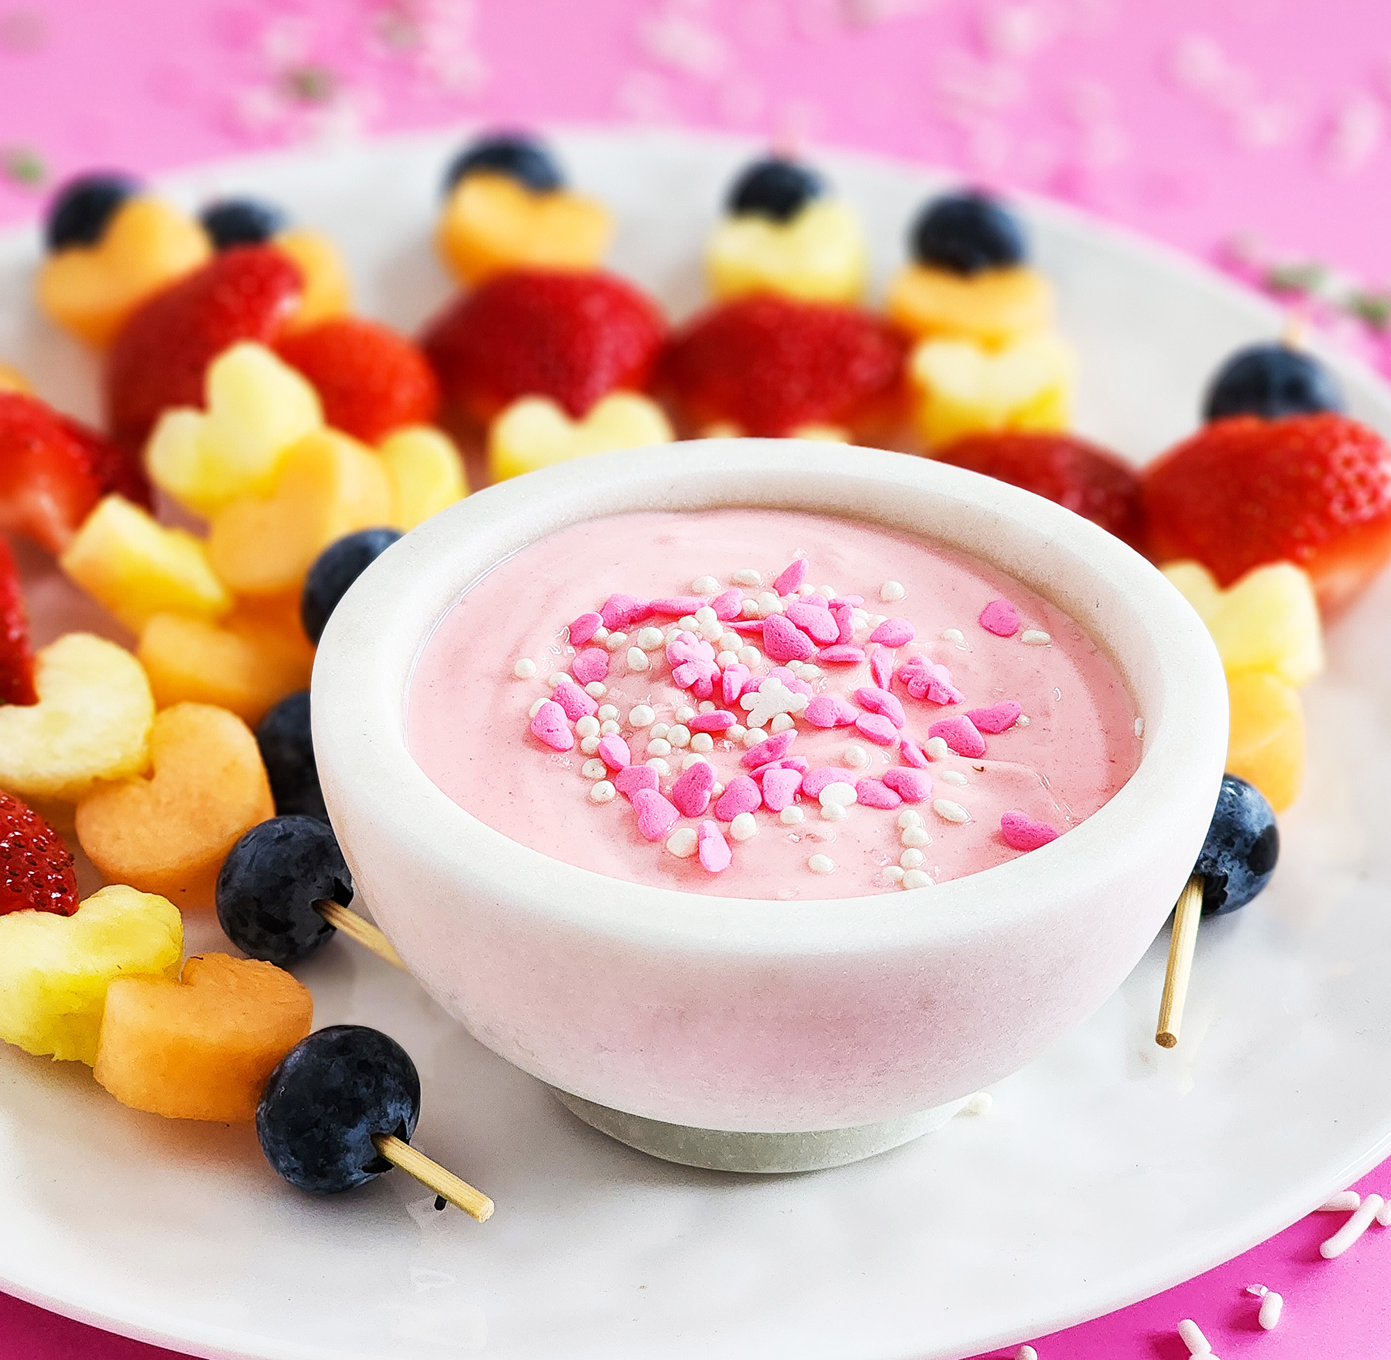
[[[494,830],[581,869],[719,897],[797,900],[896,891],[882,869],[897,864],[903,852],[897,811],[855,807],[844,820],[828,822],[817,800],[804,797],[798,809],[805,820],[785,826],[764,809],[755,813],[758,834],[736,844],[726,871],[708,873],[698,858],[666,852],[665,836],[655,843],[645,840],[626,798],[594,804],[588,797],[593,780],[581,773],[587,756],[579,747],[551,750],[529,730],[529,709],[551,693],[547,676],[577,666],[587,655],[566,641],[569,620],[598,609],[615,592],[644,599],[676,597],[707,574],[727,584],[730,573],[741,567],[772,581],[803,553],[811,566],[810,583],[829,583],[839,594],[864,598],[874,613],[912,624],[917,637],[893,654],[899,665],[925,656],[951,669],[965,695],[963,704],[928,704],[894,684],[906,709],[907,736],[922,744],[936,722],[967,709],[1007,699],[1024,705],[1028,724],[986,737],[979,759],[951,755],[932,763],[933,797],[953,800],[971,813],[968,823],[954,825],[935,816],[928,802],[921,804],[932,836],[924,868],[935,880],[1017,858],[1018,851],[1000,837],[1003,812],[1020,811],[1064,832],[1091,816],[1134,773],[1141,752],[1135,704],[1106,655],[1057,606],[985,563],[883,528],[747,509],[626,515],[574,524],[488,573],[441,622],[421,652],[410,688],[412,755],[455,802]],[[901,584],[906,595],[885,604],[879,587],[890,580]],[[750,588],[746,598],[757,594]],[[1024,629],[1042,629],[1053,641],[1029,645],[1018,634],[995,637],[981,627],[976,616],[1002,595],[1013,599]],[[798,608],[807,606],[789,606],[793,613]],[[943,640],[944,629],[957,629],[961,645]],[[612,656],[598,649],[608,663],[608,693],[600,702],[618,709],[632,758],[643,761],[650,729],[629,723],[634,705],[651,708],[657,722],[672,724],[675,709],[694,708],[696,698],[675,681],[661,648],[644,654],[647,669],[629,669],[627,651],[637,631],[638,626],[629,629],[627,644]],[[758,634],[744,641],[762,644]],[[871,644],[871,649],[878,648]],[[531,658],[540,667],[531,680],[512,674],[517,656]],[[757,662],[754,679],[768,676],[772,666],[766,656]],[[871,702],[883,693],[872,687],[868,662],[821,669],[811,681],[814,693],[839,695],[858,712],[865,704],[854,704],[857,688],[869,686]],[[741,722],[750,716],[737,702],[721,706]],[[854,727],[819,729],[805,719],[797,719],[791,730],[796,740],[787,754],[805,758],[812,770],[835,768],[844,783],[878,780],[886,770],[903,768],[892,722],[885,731],[889,745],[867,740]],[[844,765],[851,744],[862,755],[862,766]],[[759,748],[751,750],[757,754]],[[680,761],[690,754],[670,752],[672,770],[662,777],[662,793],[672,793]],[[748,773],[748,756],[743,744],[721,738],[708,759],[719,782],[727,784]],[[890,800],[897,802],[892,794],[885,801]],[[711,816],[719,816],[714,807],[679,825],[694,830],[701,818]],[[727,830],[729,818],[719,819]],[[807,861],[812,854],[829,855],[835,872],[811,872]]]

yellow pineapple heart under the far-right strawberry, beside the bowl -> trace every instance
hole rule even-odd
[[[1164,574],[1207,624],[1230,676],[1264,670],[1298,688],[1323,670],[1319,604],[1294,563],[1256,567],[1225,590],[1198,562],[1171,562]]]

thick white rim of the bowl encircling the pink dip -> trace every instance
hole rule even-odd
[[[737,480],[746,489],[712,492],[721,480]],[[882,495],[882,513],[837,510],[840,498],[855,488]],[[1013,526],[1013,544],[1008,535],[992,544],[935,537],[1015,576],[1072,615],[1111,656],[1136,706],[1136,670],[1150,666],[1156,674],[1159,698],[1142,715],[1143,748],[1129,780],[1092,816],[1028,855],[908,891],[793,901],[712,897],[612,879],[522,845],[449,798],[406,747],[410,677],[428,637],[474,581],[548,533],[623,510],[740,503],[839,513],[903,530],[904,508],[924,496]],[[1028,578],[1010,558],[1024,535],[1035,541],[1035,556],[1042,551],[1036,544],[1047,544],[1079,570],[1086,585],[1074,590],[1099,602],[1109,597],[1111,609],[1136,619],[1143,615],[1148,652],[1120,655],[1078,617],[1072,601],[1060,598],[1068,592],[1057,581]],[[388,548],[357,578],[330,617],[312,681],[316,758],[335,823],[351,832],[346,801],[373,802],[370,815],[392,826],[398,844],[430,871],[430,882],[467,880],[472,891],[494,902],[630,943],[698,953],[734,947],[769,957],[878,951],[910,940],[946,943],[1008,925],[1046,898],[1091,896],[1113,884],[1127,843],[1187,820],[1184,800],[1195,795],[1195,784],[1199,791],[1210,788],[1216,802],[1227,744],[1225,701],[1221,662],[1198,615],[1157,567],[1089,520],[932,459],[748,438],[591,455],[456,502]],[[360,882],[366,876],[356,872],[351,834],[344,852]]]

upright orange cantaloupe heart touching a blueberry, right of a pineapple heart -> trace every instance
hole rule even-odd
[[[275,815],[252,730],[207,704],[154,719],[150,776],[103,784],[78,804],[82,848],[103,876],[178,908],[213,905],[227,852]]]

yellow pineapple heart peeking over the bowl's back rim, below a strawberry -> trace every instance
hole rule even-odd
[[[523,396],[488,427],[488,463],[501,481],[587,453],[670,439],[662,409],[637,392],[609,392],[580,420],[572,420],[547,396]]]

